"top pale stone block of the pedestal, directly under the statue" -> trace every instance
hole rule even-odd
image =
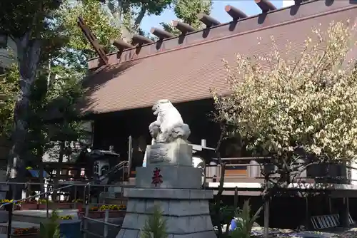
[[[192,166],[192,146],[178,138],[172,143],[146,147],[146,165]]]

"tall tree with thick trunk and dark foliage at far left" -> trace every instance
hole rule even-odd
[[[31,86],[38,73],[38,66],[48,54],[46,50],[57,47],[53,37],[57,29],[51,22],[54,10],[61,1],[14,0],[0,2],[0,27],[14,40],[19,70],[19,93],[14,106],[13,146],[8,161],[8,177],[24,182],[26,138],[28,132],[29,97]],[[20,188],[14,196],[20,196]]]

